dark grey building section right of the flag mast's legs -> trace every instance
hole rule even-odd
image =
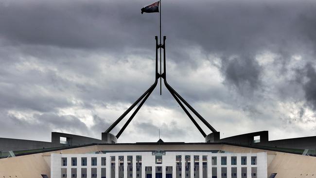
[[[205,138],[205,142],[227,142],[252,146],[259,145],[279,148],[316,149],[316,136],[269,141],[268,131],[252,132],[224,139],[220,139],[220,132],[214,132]]]

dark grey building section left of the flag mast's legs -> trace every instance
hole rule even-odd
[[[19,151],[44,149],[63,146],[77,146],[90,143],[116,143],[117,139],[110,133],[102,133],[102,140],[80,135],[52,132],[52,142],[0,138],[0,151]]]

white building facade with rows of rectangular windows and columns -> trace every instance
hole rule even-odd
[[[52,154],[51,178],[267,178],[267,154],[134,151]]]

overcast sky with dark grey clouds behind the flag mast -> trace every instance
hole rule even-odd
[[[0,137],[101,139],[154,82],[159,14],[140,14],[153,2],[0,0]],[[221,138],[316,135],[315,0],[163,0],[162,35],[168,83]],[[158,128],[204,142],[164,86],[119,142],[157,141]]]

